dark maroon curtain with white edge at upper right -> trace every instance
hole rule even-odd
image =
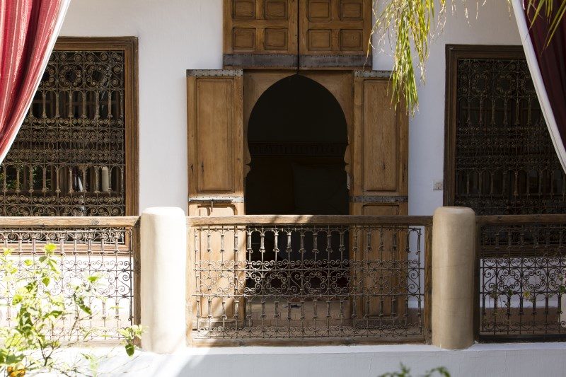
[[[546,47],[549,23],[541,15],[532,23],[527,0],[512,0],[529,71],[550,137],[566,171],[566,21],[562,20]],[[558,5],[558,4],[557,4]]]

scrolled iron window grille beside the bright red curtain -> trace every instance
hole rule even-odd
[[[1,165],[0,216],[125,214],[122,51],[50,57]]]

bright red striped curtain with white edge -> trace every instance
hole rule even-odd
[[[70,0],[0,0],[0,163],[30,107]]]

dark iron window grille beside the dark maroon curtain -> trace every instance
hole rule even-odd
[[[477,214],[566,211],[565,174],[524,59],[458,59],[454,204]]]

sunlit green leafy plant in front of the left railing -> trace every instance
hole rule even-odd
[[[81,354],[79,359],[65,361],[57,354],[93,335],[86,321],[93,315],[91,302],[97,296],[100,276],[78,279],[76,284],[62,282],[55,250],[56,246],[48,243],[37,260],[23,262],[11,257],[10,249],[0,253],[1,297],[11,297],[6,305],[16,312],[13,327],[0,327],[0,373],[8,377],[43,372],[96,374],[96,356]],[[72,284],[70,297],[52,293],[50,287],[56,284]],[[129,356],[134,354],[134,344],[142,332],[143,327],[138,325],[119,330]]]

